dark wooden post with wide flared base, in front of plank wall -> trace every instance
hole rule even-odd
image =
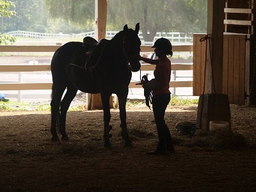
[[[196,127],[209,131],[210,120],[225,120],[230,123],[231,129],[228,96],[221,94],[225,0],[208,0],[207,6],[207,34],[210,37],[210,44],[207,47],[206,58],[206,94],[203,93],[199,98]]]

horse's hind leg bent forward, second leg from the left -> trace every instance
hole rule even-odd
[[[60,133],[62,135],[61,140],[68,140],[68,136],[66,134],[66,117],[67,117],[67,111],[70,106],[70,103],[76,96],[77,89],[73,86],[68,86],[67,92],[61,100],[60,103]]]

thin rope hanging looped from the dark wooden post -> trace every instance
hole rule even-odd
[[[203,88],[203,93],[202,93],[202,106],[201,106],[201,113],[200,113],[200,128],[202,128],[202,115],[203,115],[203,106],[204,106],[204,92],[205,92],[205,79],[206,79],[206,65],[207,65],[207,42],[209,41],[209,49],[210,49],[210,61],[211,61],[211,69],[212,69],[212,85],[214,88],[214,94],[216,93],[215,91],[215,84],[214,84],[214,76],[213,76],[213,67],[212,67],[212,52],[211,52],[211,41],[210,41],[210,36],[205,35],[204,37],[200,38],[200,42],[206,41],[206,46],[205,46],[205,67],[204,67],[204,88]],[[215,95],[216,96],[216,95]]]

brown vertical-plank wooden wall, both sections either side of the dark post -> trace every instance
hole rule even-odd
[[[199,96],[204,90],[206,42],[200,42],[203,36],[205,34],[193,36],[193,95],[195,96]],[[223,36],[223,94],[228,95],[230,104],[245,104],[246,38],[246,35]]]

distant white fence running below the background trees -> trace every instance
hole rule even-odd
[[[116,35],[118,31],[107,31],[106,38],[111,39],[113,36]],[[49,39],[63,39],[63,38],[81,38],[83,39],[84,36],[92,36],[94,37],[94,31],[86,32],[86,33],[79,33],[79,34],[63,34],[63,33],[37,33],[31,31],[10,31],[7,33],[8,35],[22,37],[22,38],[35,38],[35,39],[42,39],[42,40],[49,40]],[[139,33],[139,37],[143,40],[142,33]],[[193,34],[192,33],[180,33],[180,32],[157,32],[153,42],[160,37],[168,38],[171,42],[179,42],[179,43],[186,43],[192,44],[193,43]]]

